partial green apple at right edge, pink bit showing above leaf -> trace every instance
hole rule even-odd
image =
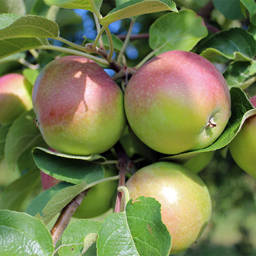
[[[256,95],[250,98],[256,107]],[[229,143],[234,161],[248,174],[256,178],[256,115],[245,120],[239,133]]]

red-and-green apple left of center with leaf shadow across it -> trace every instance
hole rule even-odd
[[[121,89],[96,62],[81,56],[48,63],[35,81],[32,100],[42,136],[61,153],[103,153],[125,127]]]

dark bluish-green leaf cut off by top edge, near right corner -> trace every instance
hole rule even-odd
[[[212,3],[228,19],[240,19],[244,16],[241,11],[240,0],[213,0]]]

